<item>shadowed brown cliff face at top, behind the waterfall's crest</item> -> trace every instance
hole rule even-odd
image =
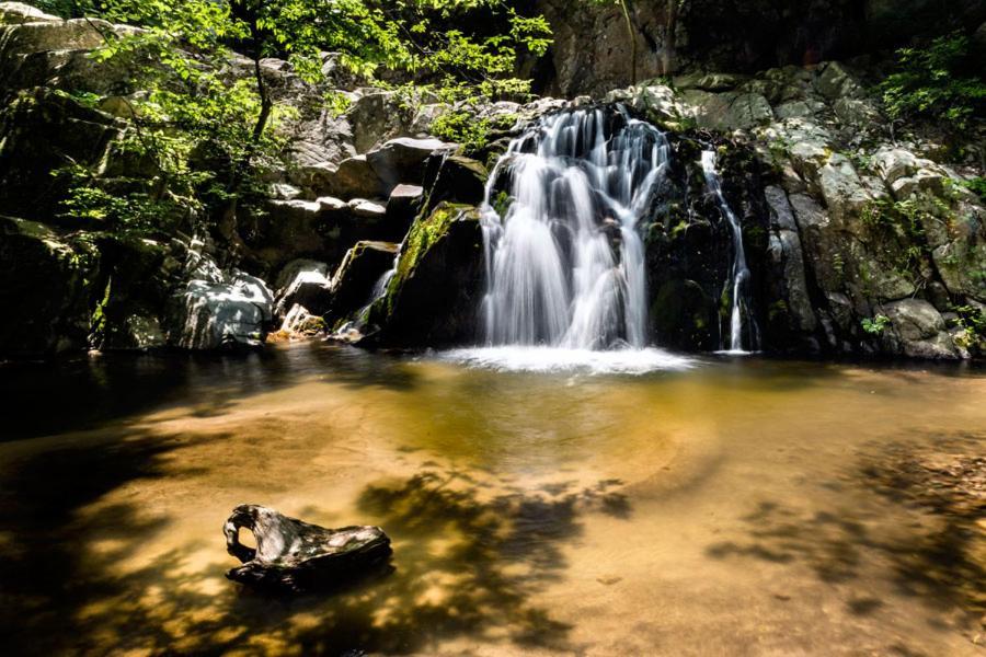
[[[631,42],[616,4],[532,4],[555,34],[540,71],[541,91],[572,97],[630,83]],[[986,4],[977,0],[638,0],[630,5],[640,80],[690,69],[753,72],[847,59],[915,36],[973,32],[986,21]]]

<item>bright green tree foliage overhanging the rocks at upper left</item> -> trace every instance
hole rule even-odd
[[[303,81],[326,89],[326,108],[342,113],[345,96],[324,84],[326,51],[369,83],[449,101],[529,93],[529,81],[514,77],[517,59],[542,55],[550,43],[543,18],[520,15],[506,0],[51,2],[64,5],[62,15],[87,13],[141,27],[105,34],[94,57],[133,71],[131,91],[140,93],[129,96],[134,131],[124,147],[140,151],[153,171],[146,184],[125,191],[76,166],[60,175],[72,183],[67,215],[149,228],[153,217],[175,215],[160,204],[186,204],[214,223],[231,222],[223,230],[234,233],[237,208],[259,199],[264,173],[286,145],[278,127],[294,117],[268,88],[264,58],[287,59]],[[491,20],[467,20],[477,15]],[[482,30],[465,27],[472,24]],[[248,55],[250,66],[237,53]],[[387,83],[375,79],[381,69]],[[462,132],[467,126],[449,119],[447,127]],[[463,141],[479,145],[489,129],[481,122]]]

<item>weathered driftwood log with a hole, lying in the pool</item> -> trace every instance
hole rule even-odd
[[[240,528],[253,532],[256,550],[240,543]],[[222,531],[227,552],[243,562],[226,576],[259,588],[337,586],[379,572],[392,553],[379,527],[325,529],[250,504],[234,508]]]

